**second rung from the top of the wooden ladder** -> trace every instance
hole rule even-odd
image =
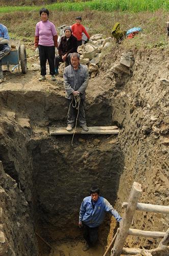
[[[137,237],[163,238],[165,235],[165,232],[145,231],[140,229],[129,228],[128,234],[130,234],[131,236],[137,236]]]

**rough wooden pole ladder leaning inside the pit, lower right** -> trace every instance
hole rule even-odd
[[[130,228],[135,210],[169,214],[169,206],[138,203],[138,200],[139,200],[141,194],[142,194],[141,184],[134,182],[133,186],[131,188],[131,191],[130,191],[130,196],[129,196],[128,202],[124,202],[122,204],[122,207],[125,208],[125,212],[124,212],[122,221],[120,223],[120,228],[118,230],[114,246],[111,250],[111,256],[119,256],[121,254],[134,255],[134,254],[137,254],[137,253],[140,253],[141,251],[143,251],[142,249],[139,249],[139,248],[124,248],[123,247],[128,234],[132,235],[132,236],[149,237],[149,238],[164,238],[164,236],[168,237],[169,230],[167,230],[166,234],[165,234],[165,232],[160,232],[160,231],[145,231],[145,230]],[[162,245],[164,245],[164,243],[162,243]],[[161,247],[163,247],[163,246],[159,245],[158,248],[161,248]],[[168,246],[166,246],[166,243],[165,243],[165,247],[168,248]]]

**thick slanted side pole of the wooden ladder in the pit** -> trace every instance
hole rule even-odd
[[[111,251],[111,256],[119,256],[122,252],[124,243],[128,236],[128,230],[130,228],[130,225],[133,219],[136,205],[141,193],[142,193],[141,184],[134,182],[131,188],[129,199],[128,199],[127,208],[124,212],[122,221],[120,223],[120,231],[117,235],[114,247],[112,248],[112,251]]]

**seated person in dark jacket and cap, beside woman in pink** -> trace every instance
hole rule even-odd
[[[77,52],[77,38],[72,35],[70,27],[66,27],[65,36],[61,37],[61,42],[58,48],[59,55],[55,56],[55,74],[58,74],[59,62],[66,62],[66,66],[71,64],[70,55]]]

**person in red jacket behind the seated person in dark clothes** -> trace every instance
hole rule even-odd
[[[90,35],[86,31],[85,27],[83,25],[81,25],[81,17],[80,16],[76,17],[76,23],[71,26],[71,29],[72,29],[73,35],[77,38],[77,46],[82,45],[82,40],[81,40],[82,32],[85,33],[86,36],[88,37],[89,41],[91,41]]]

